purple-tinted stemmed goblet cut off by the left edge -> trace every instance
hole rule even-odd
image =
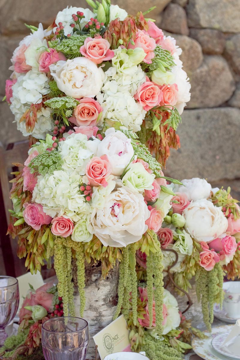
[[[11,276],[0,276],[0,346],[8,337],[5,328],[17,314],[18,305],[18,280]]]

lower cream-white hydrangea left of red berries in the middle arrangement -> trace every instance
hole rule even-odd
[[[73,221],[78,221],[78,214],[85,211],[90,213],[90,205],[80,193],[81,183],[80,175],[72,173],[69,176],[64,170],[56,170],[52,175],[38,177],[32,199],[42,204],[46,214],[51,217],[65,214]]]

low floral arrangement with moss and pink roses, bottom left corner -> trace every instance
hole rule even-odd
[[[1,356],[4,359],[44,360],[41,350],[41,333],[44,321],[55,316],[63,316],[62,298],[53,283],[44,284],[40,288],[30,289],[24,298],[19,311],[18,334],[5,340],[1,347]]]

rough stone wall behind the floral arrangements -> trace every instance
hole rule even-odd
[[[176,38],[190,82],[191,101],[178,128],[181,149],[172,151],[166,173],[179,179],[201,176],[221,183],[240,179],[240,1],[114,0],[128,13],[157,8],[149,15]],[[47,27],[66,5],[84,0],[0,0],[0,95],[9,77],[10,57],[27,34],[24,23]],[[22,139],[6,103],[0,103],[4,144]],[[236,192],[239,182],[234,181]],[[239,194],[240,198],[240,194]]]

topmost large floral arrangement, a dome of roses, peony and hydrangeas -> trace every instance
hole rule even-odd
[[[87,3],[92,11],[67,7],[46,30],[28,26],[14,50],[6,101],[18,130],[42,140],[74,126],[133,130],[165,165],[190,100],[181,49],[148,12]]]

